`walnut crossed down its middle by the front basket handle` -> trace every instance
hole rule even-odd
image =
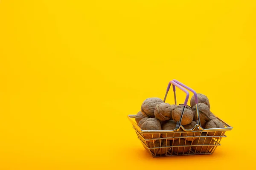
[[[174,109],[172,109],[172,119],[175,120],[175,122],[180,121],[180,116],[183,111],[184,105],[178,105]],[[188,125],[193,121],[193,112],[189,106],[186,106],[182,120],[181,125]]]

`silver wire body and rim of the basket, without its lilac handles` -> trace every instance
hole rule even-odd
[[[136,115],[128,115],[128,119],[132,123],[138,138],[142,142],[143,146],[153,157],[162,156],[180,156],[180,155],[205,155],[212,154],[216,150],[217,146],[220,146],[221,139],[227,137],[225,132],[231,130],[232,127],[221,121],[225,127],[215,129],[203,129],[198,130],[199,125],[191,130],[186,130],[182,125],[180,128],[183,131],[176,130],[142,130],[135,122]],[[178,123],[178,122],[177,122]],[[221,131],[220,136],[215,136],[216,132]],[[212,136],[209,136],[209,132],[214,132]],[[150,133],[152,139],[145,139],[144,134]],[[154,138],[153,134],[159,134],[158,138]],[[192,135],[191,135],[192,133]],[[200,135],[198,135],[200,133]],[[166,137],[162,137],[162,134],[166,134]],[[177,135],[179,134],[179,135]],[[171,137],[168,137],[171,136]],[[192,138],[192,142],[189,141]],[[189,140],[187,140],[189,139]],[[176,142],[176,140],[178,142]],[[169,142],[168,142],[169,141]],[[185,142],[184,142],[185,141]],[[202,142],[203,141],[203,142]],[[184,143],[184,144],[182,144]],[[166,146],[162,146],[162,145]]]

